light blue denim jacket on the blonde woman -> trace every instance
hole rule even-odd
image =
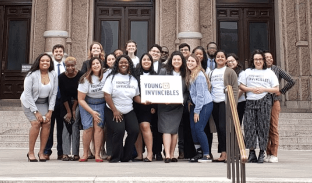
[[[203,72],[199,72],[196,80],[189,85],[189,94],[195,104],[194,113],[199,114],[204,104],[212,101],[211,94],[208,90],[206,77]]]

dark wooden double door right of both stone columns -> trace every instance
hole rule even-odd
[[[217,41],[245,67],[254,49],[275,56],[273,0],[216,0]]]

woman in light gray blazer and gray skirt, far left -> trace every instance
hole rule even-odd
[[[33,62],[24,79],[24,91],[20,101],[24,114],[30,121],[28,161],[38,161],[34,157],[34,144],[40,127],[40,149],[38,157],[45,161],[43,150],[50,132],[50,120],[57,94],[57,74],[53,70],[53,60],[47,53],[40,54]]]

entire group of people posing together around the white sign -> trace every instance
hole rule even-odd
[[[34,60],[25,75],[20,97],[31,123],[29,161],[37,161],[34,144],[39,132],[39,161],[49,160],[56,121],[57,159],[64,161],[163,160],[163,144],[166,163],[181,158],[190,162],[224,162],[226,85],[232,86],[239,121],[244,125],[245,144],[249,148],[247,161],[278,161],[278,95],[289,90],[294,80],[273,65],[269,52],[255,50],[246,70],[242,70],[235,54],[218,50],[215,42],[207,44],[207,52],[202,46],[190,52],[187,43],[180,44],[179,50],[170,56],[168,48],[158,44],[153,44],[140,58],[136,52],[133,40],[126,42],[125,52],[116,49],[109,54],[104,53],[99,42],[93,42],[88,59],[78,70],[73,56],[62,61],[64,47],[56,44],[52,48],[53,59],[42,53]],[[140,75],[180,76],[183,103],[142,103]],[[287,84],[279,90],[281,78]],[[211,153],[213,132],[217,132],[218,158]],[[257,140],[258,157],[254,151]]]

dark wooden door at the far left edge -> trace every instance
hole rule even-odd
[[[23,91],[21,64],[29,63],[31,6],[2,6],[0,98],[19,98]],[[2,28],[1,27],[1,28]]]

